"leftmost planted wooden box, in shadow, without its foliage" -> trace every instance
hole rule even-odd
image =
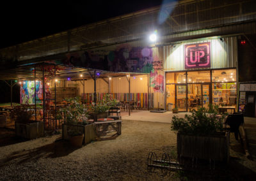
[[[15,134],[29,140],[41,138],[44,136],[44,122],[37,121],[26,124],[15,122]]]

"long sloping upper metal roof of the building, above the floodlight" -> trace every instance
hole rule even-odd
[[[141,40],[256,19],[254,0],[185,0],[129,13],[0,50],[0,61],[48,55]],[[161,22],[161,18],[164,18]]]

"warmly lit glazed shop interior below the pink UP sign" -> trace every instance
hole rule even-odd
[[[166,104],[180,112],[209,104],[236,107],[236,69],[166,73]]]

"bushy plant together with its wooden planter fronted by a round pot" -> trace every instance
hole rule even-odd
[[[79,103],[79,98],[65,100],[70,104],[58,110],[58,119],[65,120],[62,125],[62,137],[64,140],[70,140],[72,145],[81,147],[94,139],[93,124],[87,122],[88,109]]]

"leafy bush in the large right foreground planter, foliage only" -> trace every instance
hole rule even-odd
[[[218,113],[218,106],[209,105],[209,108],[192,110],[192,115],[184,118],[172,117],[172,130],[185,134],[209,135],[223,131],[222,121],[226,114]]]

